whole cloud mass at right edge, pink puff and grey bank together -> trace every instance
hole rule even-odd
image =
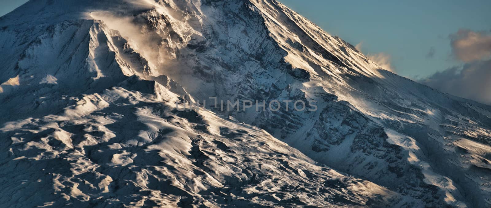
[[[450,35],[450,46],[454,58],[464,64],[418,81],[442,92],[491,104],[491,35],[461,29]]]

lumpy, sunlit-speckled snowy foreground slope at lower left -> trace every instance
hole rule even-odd
[[[400,200],[136,76],[0,129],[5,207],[372,207]],[[55,99],[53,99],[55,100]],[[48,115],[49,114],[49,115]]]

